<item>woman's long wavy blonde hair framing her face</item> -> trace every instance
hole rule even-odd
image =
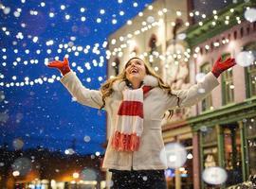
[[[134,59],[137,59],[137,60],[141,60],[137,57],[134,57],[130,60],[128,60],[126,63],[125,63],[125,67],[123,68],[122,72],[117,76],[117,77],[114,77],[114,78],[109,78],[106,80],[105,83],[103,83],[101,85],[101,94],[102,94],[102,101],[103,101],[103,105],[101,106],[101,109],[104,108],[105,106],[105,99],[110,96],[112,93],[113,93],[113,84],[115,81],[119,80],[120,82],[121,81],[128,81],[127,78],[126,78],[126,75],[125,75],[125,69],[126,69],[126,65],[131,61],[131,60],[134,60]],[[171,87],[168,85],[168,84],[165,84],[162,80],[161,77],[159,77],[155,71],[151,68],[151,66],[148,65],[147,62],[145,62],[144,60],[142,60],[144,62],[144,66],[145,66],[145,69],[146,69],[146,75],[151,75],[155,78],[157,78],[158,80],[158,87],[165,90],[168,94],[172,94],[172,89]],[[173,94],[175,95],[175,94]],[[177,102],[177,105],[179,106],[179,97],[178,98],[178,102]],[[100,110],[101,110],[100,109]],[[170,115],[173,115],[174,112],[170,112]]]

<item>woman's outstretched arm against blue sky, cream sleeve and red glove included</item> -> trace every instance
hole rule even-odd
[[[47,66],[57,68],[63,74],[64,77],[62,77],[61,82],[79,103],[92,108],[101,108],[103,104],[101,91],[86,89],[76,74],[71,71],[66,58],[64,61],[51,61]]]

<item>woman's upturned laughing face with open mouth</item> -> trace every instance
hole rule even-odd
[[[142,60],[133,59],[125,65],[125,76],[132,82],[134,80],[142,81],[146,76],[146,67]]]

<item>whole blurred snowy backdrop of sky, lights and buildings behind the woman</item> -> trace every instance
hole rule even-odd
[[[84,86],[100,89],[137,56],[173,90],[186,90],[222,56],[238,65],[220,85],[162,120],[168,188],[253,188],[255,7],[254,0],[0,1],[0,187],[113,184],[101,168],[108,115],[77,103],[49,61],[68,58]]]

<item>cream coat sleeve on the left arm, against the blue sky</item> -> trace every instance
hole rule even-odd
[[[61,82],[79,103],[92,108],[100,109],[102,102],[101,91],[86,89],[74,72],[69,72],[61,78]]]

